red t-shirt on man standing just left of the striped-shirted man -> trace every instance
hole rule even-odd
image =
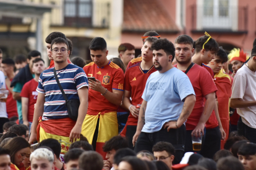
[[[22,92],[20,93],[21,97],[27,97],[28,98],[28,121],[33,121],[33,115],[34,115],[34,105],[37,100],[38,92],[36,91],[36,87],[38,86],[38,82],[35,81],[35,79],[32,79],[24,84],[22,88]]]

